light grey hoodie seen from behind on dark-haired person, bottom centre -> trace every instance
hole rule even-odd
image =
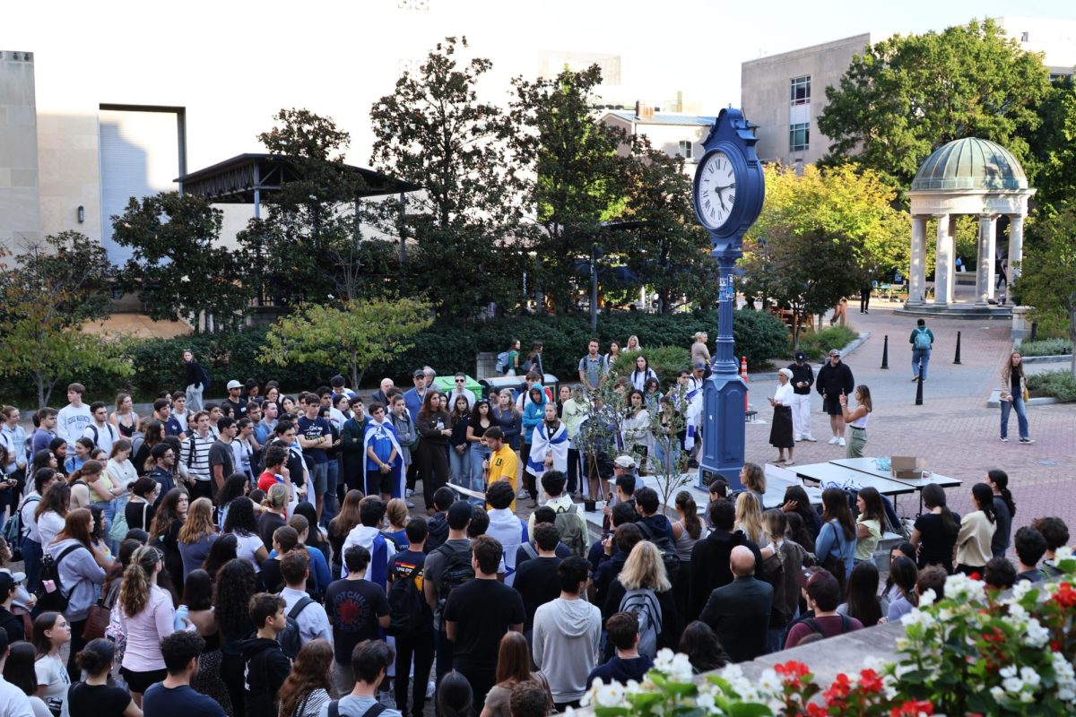
[[[586,691],[586,675],[597,664],[601,611],[584,599],[557,598],[535,613],[532,650],[549,679],[553,702],[575,702]]]

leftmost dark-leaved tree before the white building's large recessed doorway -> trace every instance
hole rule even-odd
[[[238,253],[221,246],[221,212],[195,195],[162,191],[112,217],[113,238],[133,248],[124,285],[154,320],[187,319],[199,330],[236,326],[252,296]]]

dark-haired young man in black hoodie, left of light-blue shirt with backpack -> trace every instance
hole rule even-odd
[[[239,643],[244,663],[247,715],[275,715],[277,692],[292,672],[292,660],[277,642],[277,636],[287,627],[286,604],[280,596],[268,592],[251,598],[251,620],[257,635]]]

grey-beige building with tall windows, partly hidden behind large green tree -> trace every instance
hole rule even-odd
[[[1043,53],[1051,77],[1073,74],[1076,23],[1015,16],[994,21],[1024,49]],[[818,117],[826,105],[825,88],[839,84],[854,55],[888,37],[865,32],[741,63],[740,105],[758,125],[759,157],[790,166],[824,157],[830,140],[819,132]]]

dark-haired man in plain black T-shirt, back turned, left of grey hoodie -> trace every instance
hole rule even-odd
[[[489,535],[471,541],[475,579],[452,590],[444,605],[444,631],[455,643],[452,666],[470,683],[478,713],[496,684],[500,639],[509,630],[522,632],[526,621],[519,591],[497,579],[501,553]]]

